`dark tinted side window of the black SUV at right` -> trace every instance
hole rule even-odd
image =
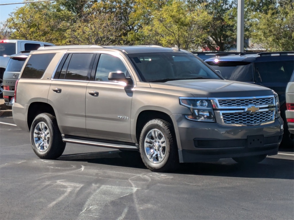
[[[294,60],[258,62],[254,65],[261,82],[289,82],[294,69]]]

